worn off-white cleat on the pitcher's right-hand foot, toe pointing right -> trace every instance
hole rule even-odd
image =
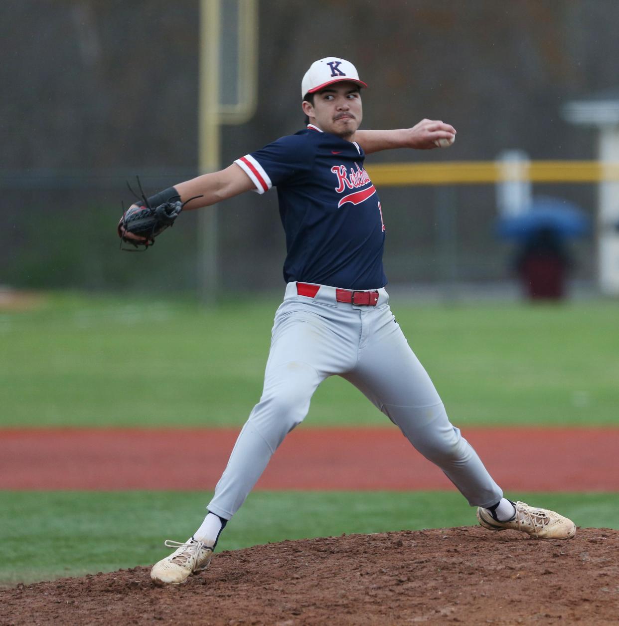
[[[510,521],[496,521],[490,511],[478,508],[477,519],[488,530],[520,530],[536,539],[570,539],[576,534],[573,521],[548,509],[535,508],[524,502],[515,502],[516,516]]]

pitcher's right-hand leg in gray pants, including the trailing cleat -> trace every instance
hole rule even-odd
[[[358,364],[345,378],[355,384],[423,456],[440,467],[485,528],[515,528],[537,538],[568,538],[575,526],[563,516],[511,503],[491,478],[475,449],[453,426],[435,386],[389,307],[365,310]]]

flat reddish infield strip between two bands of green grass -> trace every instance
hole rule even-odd
[[[0,489],[212,490],[237,434],[0,429]],[[464,434],[505,490],[619,491],[617,428],[469,428]],[[188,441],[208,454],[188,454]],[[256,488],[408,491],[453,485],[395,427],[299,428]]]

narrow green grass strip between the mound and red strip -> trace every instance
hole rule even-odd
[[[149,565],[202,521],[209,493],[0,491],[0,585]],[[619,528],[619,494],[519,494],[581,526]],[[527,500],[528,498],[528,500]],[[256,491],[229,523],[219,550],[342,533],[474,525],[458,493]]]

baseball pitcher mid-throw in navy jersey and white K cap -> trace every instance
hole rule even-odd
[[[316,61],[301,81],[306,128],[240,156],[224,170],[144,198],[118,225],[126,242],[148,246],[161,224],[145,231],[144,215],[169,221],[183,207],[208,207],[239,193],[277,187],[286,232],[286,289],[275,314],[262,396],[238,436],[202,525],[187,541],[166,541],[175,550],[154,565],[151,578],[157,584],[178,585],[208,567],[224,526],[286,434],[303,421],[316,387],[334,375],[360,389],[445,472],[478,507],[484,528],[512,528],[540,539],[575,534],[574,523],[558,513],[503,496],[450,423],[391,313],[382,260],[388,212],[383,214],[378,190],[363,167],[365,156],[390,148],[450,145],[456,131],[433,120],[405,130],[359,130],[363,88],[366,83],[349,61]],[[136,219],[140,228],[132,230],[136,216],[141,216]]]

